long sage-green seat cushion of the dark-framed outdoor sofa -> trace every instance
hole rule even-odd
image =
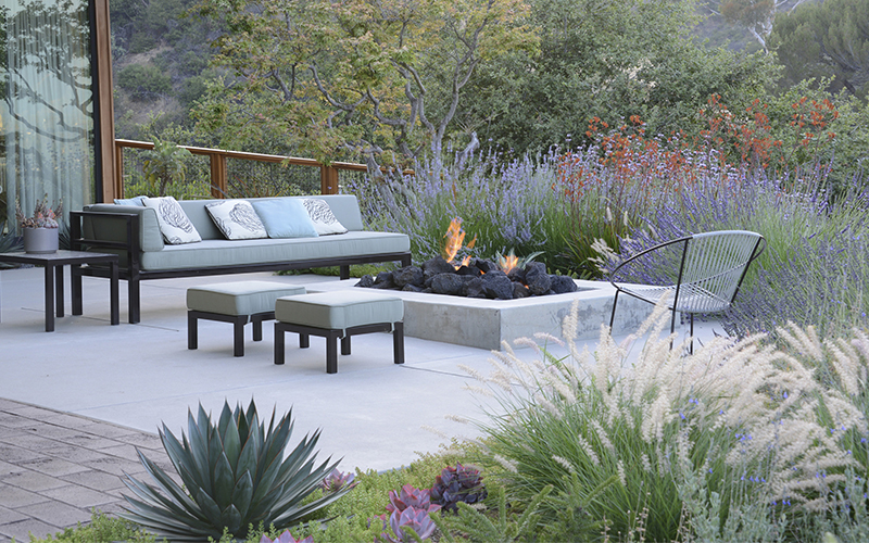
[[[319,238],[251,239],[243,242],[202,240],[142,253],[144,270],[168,270],[316,261],[400,253],[411,250],[404,233],[349,231]]]

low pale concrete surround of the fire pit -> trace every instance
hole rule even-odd
[[[357,279],[317,285],[317,290],[354,289]],[[457,345],[500,350],[501,342],[546,332],[562,338],[562,320],[579,302],[578,339],[594,339],[609,324],[615,289],[608,282],[577,280],[578,292],[522,300],[482,300],[443,294],[383,291],[404,301],[404,333]],[[366,289],[366,292],[371,290]],[[619,300],[614,333],[634,331],[653,306],[624,296]]]

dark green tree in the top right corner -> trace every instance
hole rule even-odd
[[[781,15],[770,45],[784,66],[784,88],[827,77],[832,92],[869,92],[869,0],[827,0]]]

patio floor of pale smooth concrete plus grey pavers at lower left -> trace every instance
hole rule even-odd
[[[464,390],[461,365],[483,374],[489,351],[406,338],[406,364],[392,364],[391,337],[357,336],[339,372],[325,372],[325,342],[299,350],[288,338],[287,364],[273,364],[273,327],[262,342],[247,330],[244,357],[232,356],[231,326],[200,321],[199,349],[187,349],[185,293],[193,285],[256,278],[303,285],[320,276],[247,276],[165,279],[142,283],[142,323],[127,324],[126,283],[121,325],[109,325],[109,282],[84,279],[84,315],[56,320],[45,332],[41,268],[0,270],[0,542],[45,536],[90,518],[91,507],[116,512],[123,471],[141,473],[135,447],[168,466],[156,430],[176,435],[188,409],[218,413],[224,402],[262,417],[292,408],[292,444],[322,429],[319,459],[342,458],[340,469],[383,470],[436,452],[448,435],[474,428],[445,418],[484,417]],[[720,329],[717,330],[719,333]],[[695,329],[700,338],[711,326]],[[317,341],[319,340],[319,341]],[[531,357],[533,351],[520,351]],[[490,406],[494,409],[494,406]]]

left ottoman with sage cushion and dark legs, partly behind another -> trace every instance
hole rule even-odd
[[[244,325],[253,323],[253,341],[263,339],[263,320],[275,318],[275,300],[304,294],[304,287],[275,281],[239,281],[187,289],[187,349],[197,349],[199,319],[232,323],[232,354],[244,356]]]

